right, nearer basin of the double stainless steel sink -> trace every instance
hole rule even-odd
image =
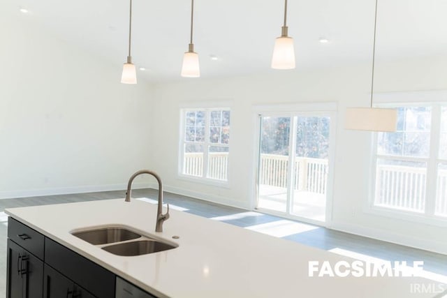
[[[173,246],[171,244],[149,239],[103,246],[103,250],[115,255],[131,256],[157,253],[159,251],[168,251],[168,249],[173,249],[176,247],[177,246]]]

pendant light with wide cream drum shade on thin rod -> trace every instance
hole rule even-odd
[[[344,128],[356,131],[396,131],[397,110],[372,107],[374,91],[374,59],[376,52],[377,0],[374,14],[374,41],[372,45],[371,99],[369,107],[348,107],[345,114]]]

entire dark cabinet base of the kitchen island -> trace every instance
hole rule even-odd
[[[6,298],[152,298],[27,225],[8,219]]]

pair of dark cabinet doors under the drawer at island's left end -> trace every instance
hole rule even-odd
[[[7,298],[42,298],[43,262],[8,239]]]

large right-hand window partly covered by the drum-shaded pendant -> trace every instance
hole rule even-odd
[[[374,206],[447,217],[447,106],[397,115],[395,133],[377,133]]]

